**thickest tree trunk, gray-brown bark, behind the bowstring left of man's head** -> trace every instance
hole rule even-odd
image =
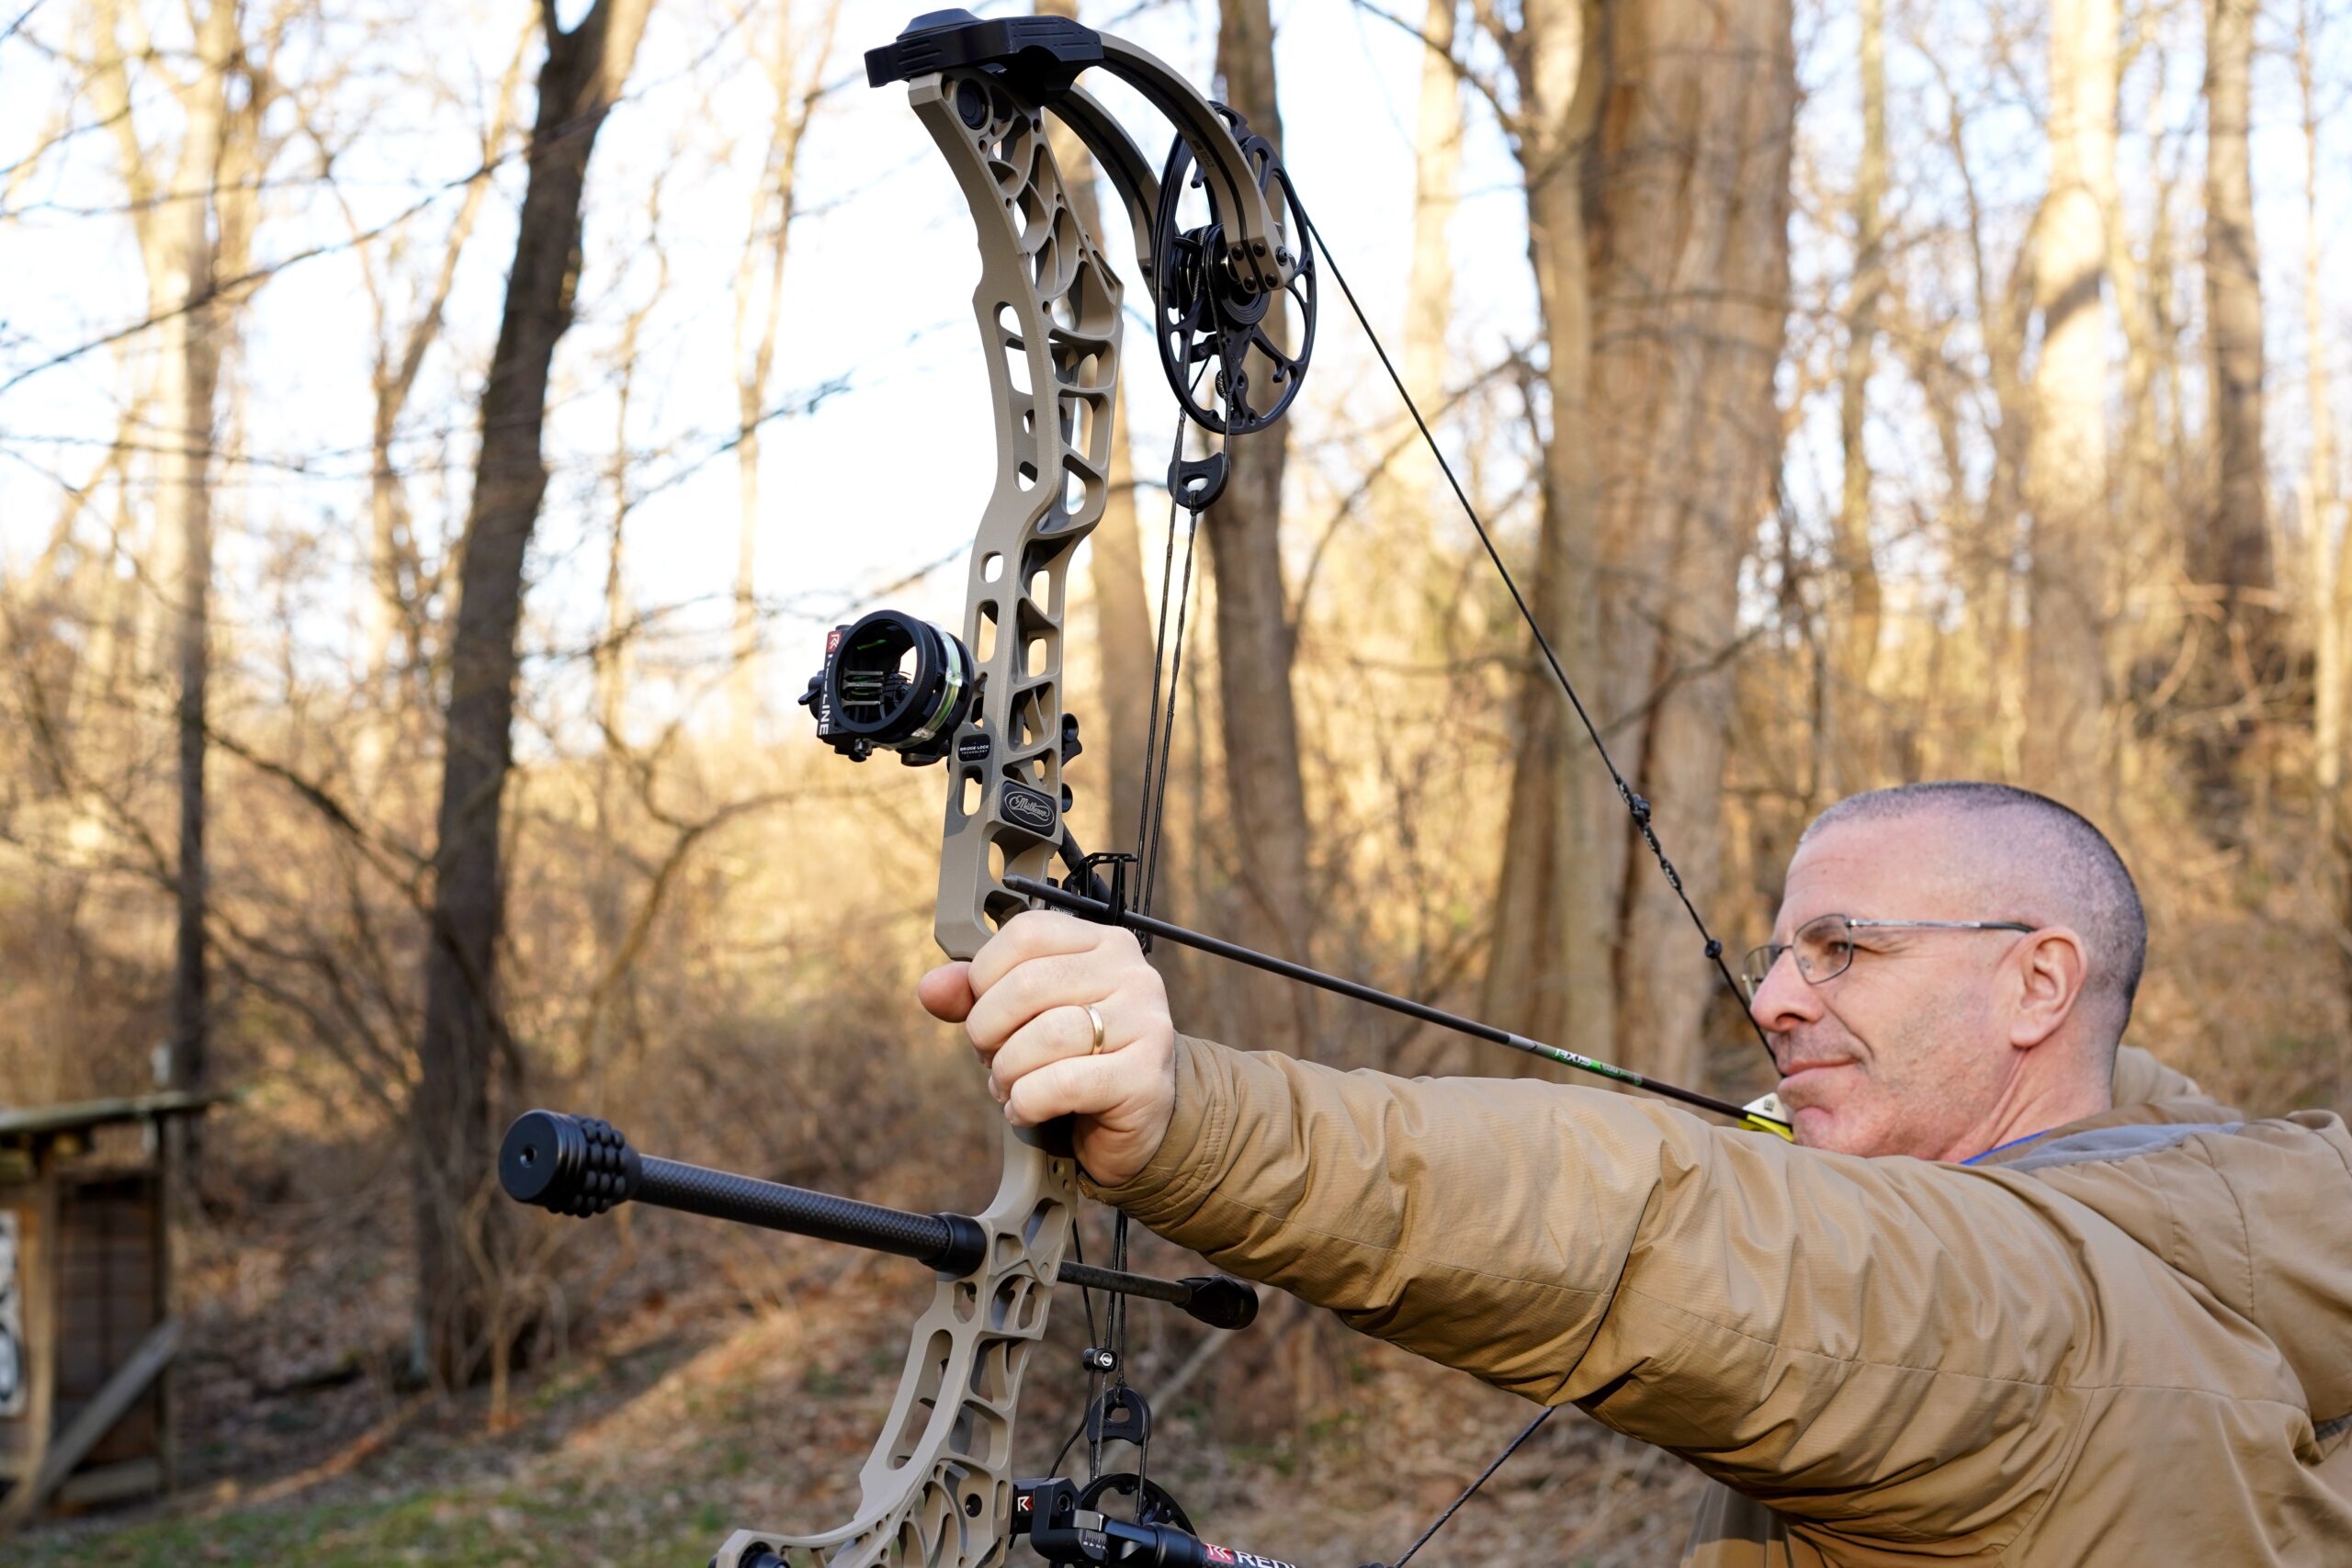
[[[1517,78],[1550,348],[1536,614],[1703,903],[1722,642],[1780,444],[1790,14],[1658,2],[1592,21],[1569,5],[1486,19]],[[1675,940],[1686,917],[1541,663],[1515,736],[1486,1009],[1588,1056],[1686,1070],[1708,997],[1696,938]]]

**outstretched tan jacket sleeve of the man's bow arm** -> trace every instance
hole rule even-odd
[[[1155,1161],[1096,1192],[1362,1333],[1882,1542],[1992,1547],[2046,1502],[2103,1295],[2150,1288],[2138,1248],[2030,1178],[1207,1041],[1181,1046]]]

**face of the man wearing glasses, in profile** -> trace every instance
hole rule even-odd
[[[2018,919],[1985,905],[1964,827],[1940,813],[1837,823],[1788,867],[1773,940],[1809,919]],[[1853,964],[1813,985],[1780,957],[1750,1011],[1771,1034],[1797,1143],[1837,1154],[1969,1159],[2011,1067],[1999,969],[2009,931],[1853,933]]]

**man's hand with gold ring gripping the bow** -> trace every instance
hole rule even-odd
[[[1131,933],[1030,910],[969,964],[927,973],[915,997],[964,1025],[1007,1121],[1075,1117],[1070,1147],[1094,1180],[1117,1187],[1160,1152],[1176,1112],[1176,1025]]]

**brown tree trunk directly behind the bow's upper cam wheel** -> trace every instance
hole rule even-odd
[[[1225,101],[1279,153],[1275,28],[1268,0],[1223,0],[1216,73]],[[1303,237],[1298,237],[1303,242]],[[1282,310],[1275,301],[1272,313]],[[1279,322],[1270,329],[1279,336]],[[1216,686],[1223,705],[1230,929],[1237,940],[1305,959],[1312,940],[1308,804],[1291,698],[1294,632],[1282,588],[1282,465],[1287,423],[1225,442],[1232,477],[1202,517],[1216,576]],[[1228,976],[1225,1018],[1247,1020],[1244,1044],[1315,1056],[1315,992],[1256,971]]]

